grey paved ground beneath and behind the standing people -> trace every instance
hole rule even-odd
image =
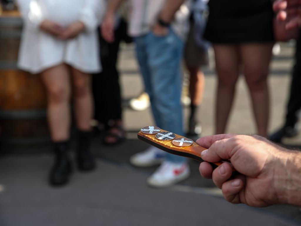
[[[269,83],[271,87],[270,131],[281,126],[290,82],[293,44],[281,46],[274,57]],[[211,54],[212,57],[212,54]],[[214,62],[205,68],[206,89],[199,119],[203,135],[213,133],[215,83]],[[123,46],[119,66],[123,98],[142,90],[141,77],[134,59],[133,46]],[[187,109],[185,116],[187,117]],[[138,120],[137,120],[138,119]],[[247,119],[247,120],[246,120]],[[101,135],[93,139],[98,167],[92,173],[74,170],[70,184],[52,188],[46,176],[52,156],[43,151],[0,157],[0,225],[300,225],[296,207],[250,208],[232,205],[222,199],[211,180],[198,174],[198,163],[191,161],[191,177],[166,189],[151,189],[145,181],[153,168],[134,168],[128,159],[147,147],[136,139],[137,131],[152,124],[150,109],[132,111],[124,107],[128,140],[120,146],[104,147]],[[229,133],[256,132],[250,101],[240,79],[228,127]],[[301,137],[285,143],[299,146]],[[75,145],[72,145],[75,149]]]

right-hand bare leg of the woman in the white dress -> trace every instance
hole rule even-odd
[[[72,68],[72,77],[76,125],[79,130],[89,131],[93,116],[91,76]]]

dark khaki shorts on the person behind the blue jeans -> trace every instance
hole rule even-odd
[[[194,23],[190,24],[190,30],[185,44],[185,63],[188,67],[201,67],[209,64],[208,51],[197,46],[194,40]]]

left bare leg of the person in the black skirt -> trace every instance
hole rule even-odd
[[[216,134],[225,133],[239,76],[239,57],[235,45],[213,45],[218,75]]]

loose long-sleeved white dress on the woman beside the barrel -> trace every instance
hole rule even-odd
[[[18,0],[24,20],[18,66],[33,74],[66,63],[79,71],[101,71],[97,26],[105,12],[104,0]],[[60,40],[39,29],[52,20],[61,26],[82,21],[86,30],[73,39]]]

